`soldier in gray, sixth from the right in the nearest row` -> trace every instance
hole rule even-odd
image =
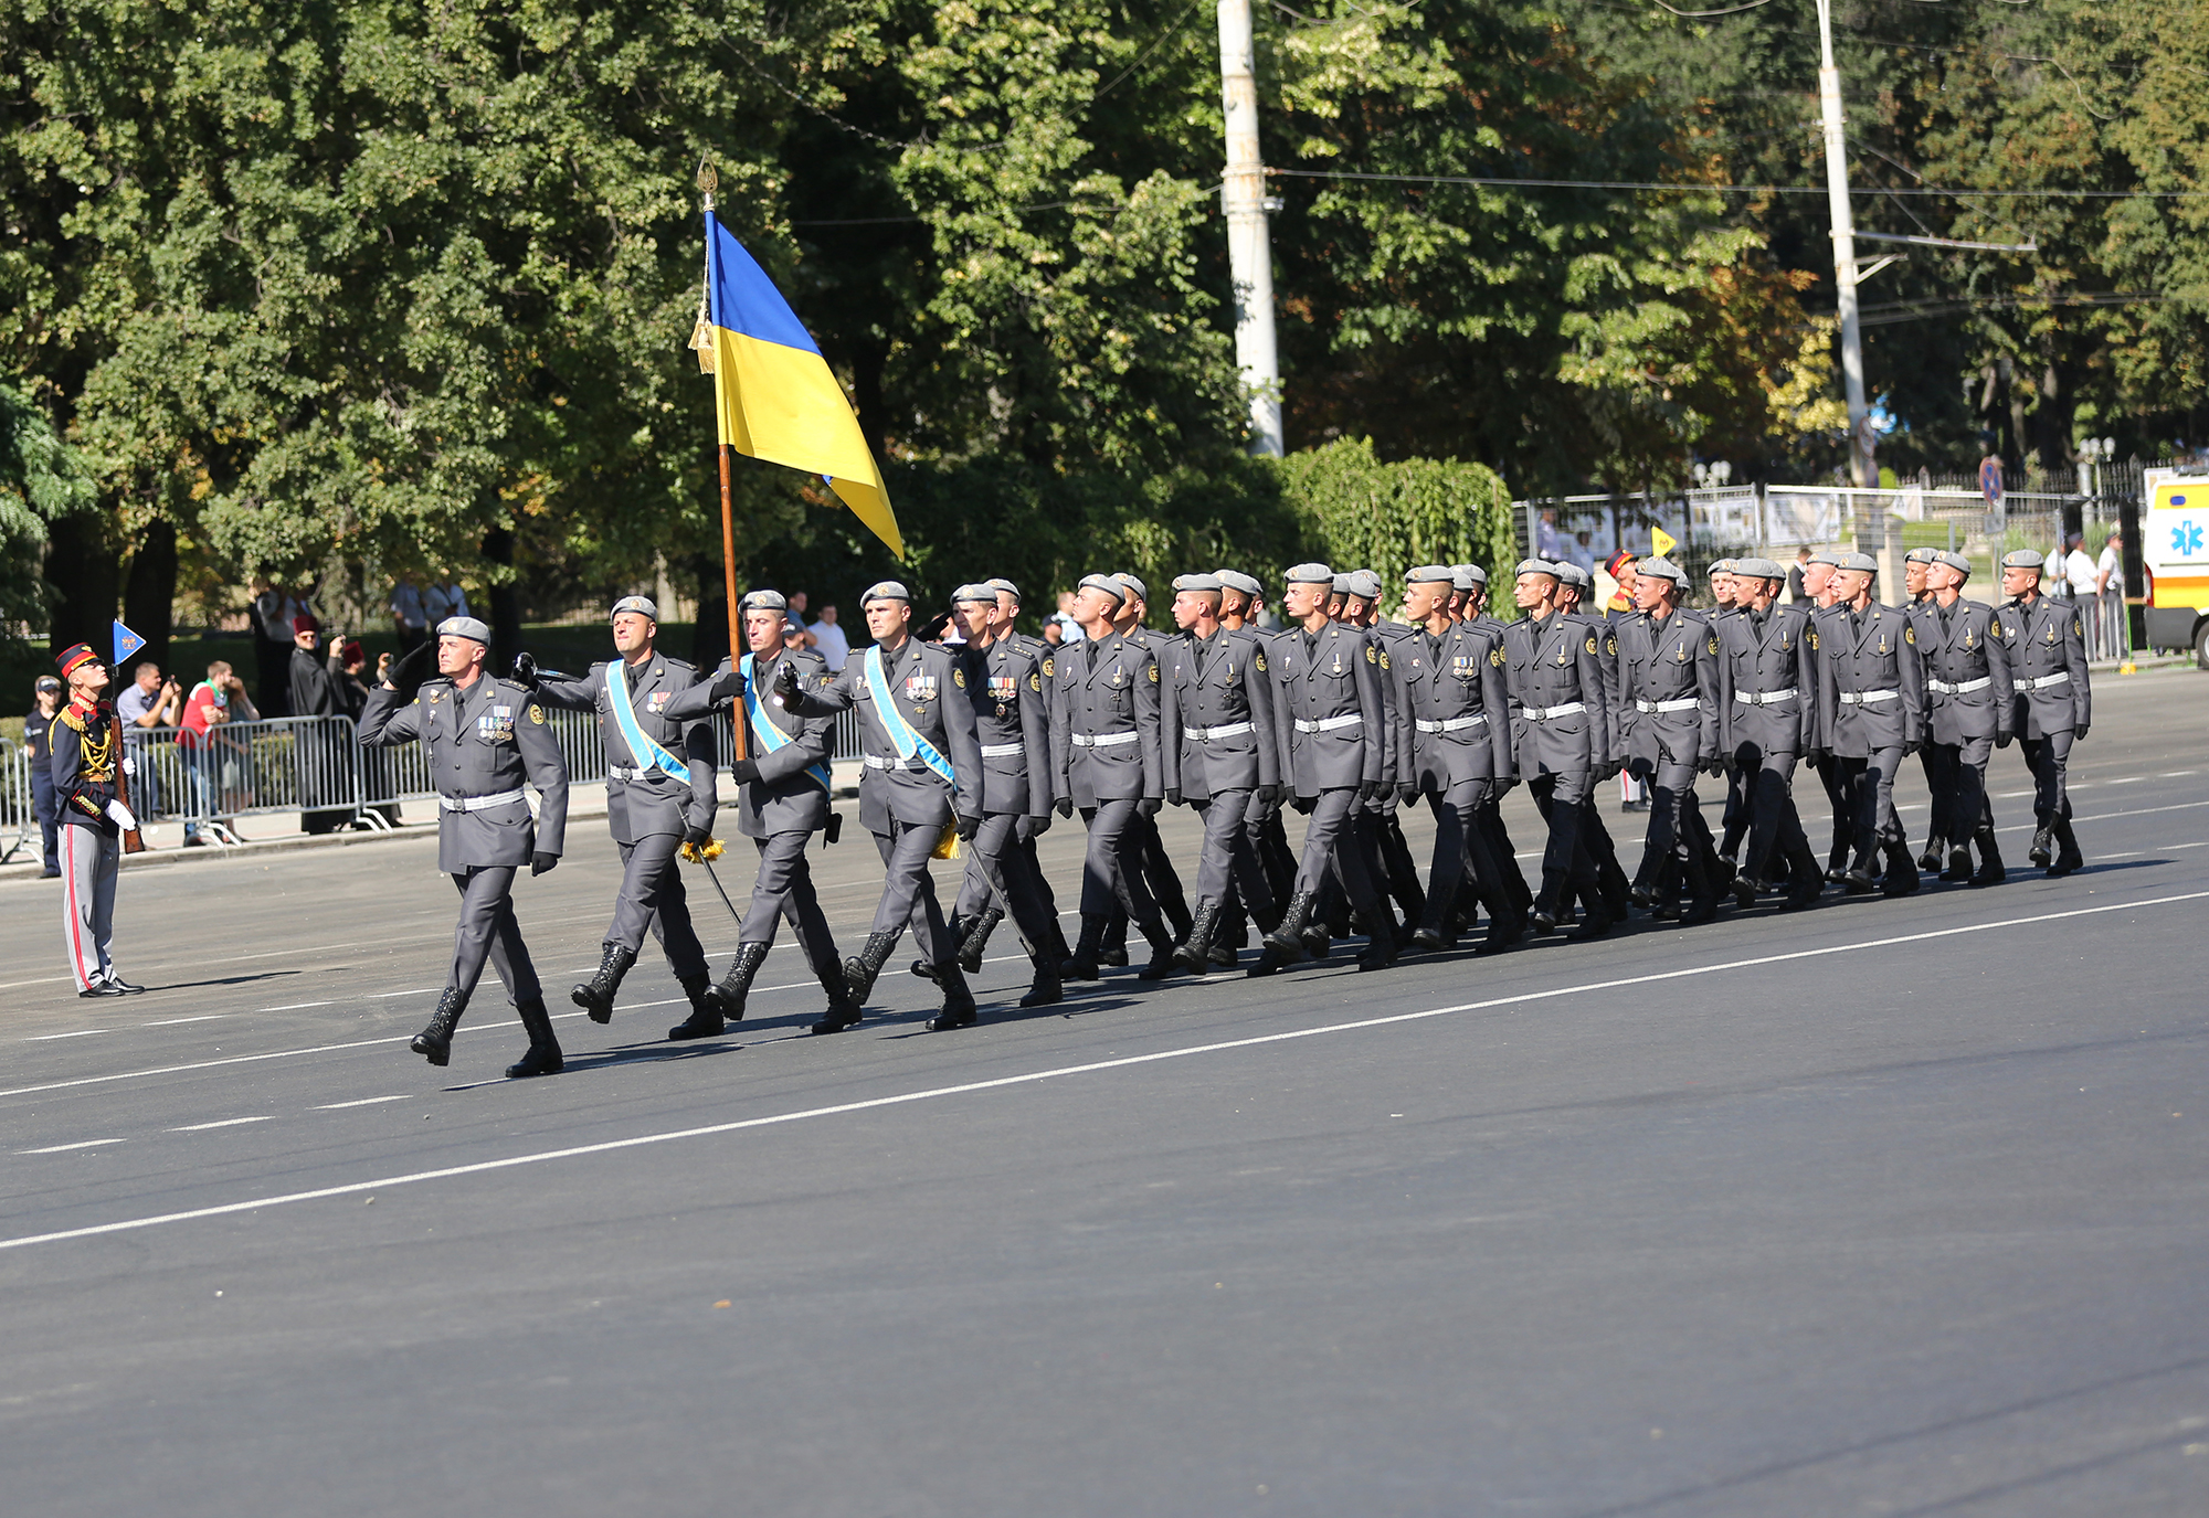
[[[1602,938],[1610,913],[1579,834],[1595,774],[1610,772],[1604,640],[1593,624],[1557,609],[1557,569],[1546,558],[1520,563],[1515,594],[1526,616],[1504,627],[1504,684],[1524,721],[1518,770],[1549,821],[1533,924],[1544,933],[1557,927],[1571,885],[1586,909],[1573,936]]]

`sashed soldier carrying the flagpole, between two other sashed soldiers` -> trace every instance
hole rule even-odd
[[[828,827],[833,774],[828,755],[835,750],[835,717],[800,717],[782,706],[771,691],[789,664],[797,684],[820,691],[828,684],[828,662],[811,649],[793,649],[789,633],[789,600],[782,591],[751,591],[738,602],[744,618],[744,658],[720,662],[714,680],[696,684],[667,704],[667,717],[705,717],[725,702],[742,699],[744,759],[729,766],[736,779],[736,827],[760,854],[751,880],[751,900],[736,931],[736,960],[702,1006],[667,1030],[669,1039],[709,1039],[744,1017],[751,982],[775,944],[775,922],[791,920],[797,947],[828,993],[828,1022],[850,1026],[859,1004],[844,982],[844,960],[835,936],[813,891],[813,867],[806,845]],[[709,761],[711,763],[711,761]]]

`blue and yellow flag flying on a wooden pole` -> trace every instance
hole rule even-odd
[[[711,346],[700,344],[700,357],[711,355],[720,441],[753,459],[824,477],[903,558],[890,492],[881,488],[881,470],[844,386],[791,302],[714,212],[705,214],[705,307],[700,340]]]

